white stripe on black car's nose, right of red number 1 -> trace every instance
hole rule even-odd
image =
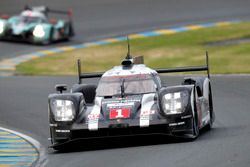
[[[140,114],[140,127],[148,127],[150,121],[151,108],[154,105],[155,94],[145,94],[142,97],[142,106]]]

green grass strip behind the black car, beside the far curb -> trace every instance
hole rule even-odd
[[[208,51],[211,73],[250,73],[250,42],[208,45],[242,38],[250,38],[249,22],[138,38],[130,43],[132,55],[143,55],[145,64],[152,68],[204,65],[205,51]],[[76,60],[81,59],[84,72],[104,71],[119,65],[126,54],[126,42],[118,42],[33,59],[18,65],[16,70],[24,75],[74,75]]]

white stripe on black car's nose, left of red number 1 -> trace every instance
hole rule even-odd
[[[92,108],[90,114],[88,115],[88,129],[89,130],[98,130],[98,122],[101,113],[101,97],[95,98],[95,105]]]

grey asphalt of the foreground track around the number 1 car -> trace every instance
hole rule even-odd
[[[182,77],[164,77],[180,83]],[[54,84],[72,85],[76,77],[8,77],[1,79],[1,124],[16,127],[47,146],[47,95]],[[84,81],[96,83],[96,80]],[[115,142],[80,142],[70,152],[48,150],[48,166],[217,166],[250,165],[250,76],[212,77],[215,126],[194,142],[153,137]],[[4,98],[3,98],[3,95]],[[4,112],[3,112],[4,111]]]

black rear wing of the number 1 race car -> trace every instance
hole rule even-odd
[[[140,59],[141,59],[141,57],[140,57]],[[143,60],[142,60],[142,62],[143,62]],[[82,71],[81,71],[81,61],[79,59],[77,60],[77,66],[78,66],[79,84],[82,83],[82,79],[84,79],[84,78],[99,78],[99,77],[101,77],[104,74],[104,72],[82,73]],[[210,78],[208,52],[206,51],[206,65],[205,66],[190,66],[190,67],[177,67],[177,68],[159,68],[159,69],[155,69],[155,70],[159,74],[160,73],[207,71],[207,76],[208,76],[208,78]]]

